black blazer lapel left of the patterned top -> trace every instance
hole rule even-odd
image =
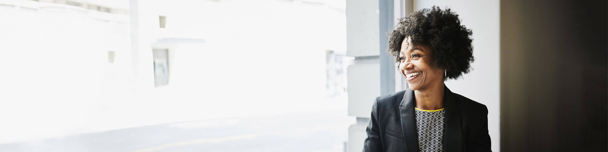
[[[407,88],[401,103],[399,103],[399,114],[401,116],[401,130],[404,136],[407,152],[418,150],[418,130],[416,130],[416,119],[414,116],[416,106],[414,91]]]

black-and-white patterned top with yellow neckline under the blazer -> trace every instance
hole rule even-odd
[[[445,111],[416,109],[418,150],[421,152],[443,151],[443,120]]]

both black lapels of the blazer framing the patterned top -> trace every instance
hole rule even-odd
[[[454,98],[454,94],[447,86],[444,86],[443,94],[445,119],[443,124],[443,150],[462,151],[463,136],[460,110]],[[399,113],[401,116],[401,130],[404,135],[404,143],[408,152],[418,150],[418,130],[416,129],[416,116],[414,107],[416,98],[414,91],[407,88],[401,103],[399,103]]]

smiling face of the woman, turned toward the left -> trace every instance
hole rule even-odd
[[[412,48],[411,38],[401,43],[399,71],[406,77],[412,90],[424,90],[443,82],[443,69],[435,66],[432,50],[423,45]]]

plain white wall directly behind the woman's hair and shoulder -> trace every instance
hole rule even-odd
[[[492,151],[500,150],[500,1],[425,0],[413,1],[413,10],[446,6],[460,15],[462,24],[473,30],[475,62],[471,73],[460,80],[446,81],[452,91],[488,106],[488,130]]]

